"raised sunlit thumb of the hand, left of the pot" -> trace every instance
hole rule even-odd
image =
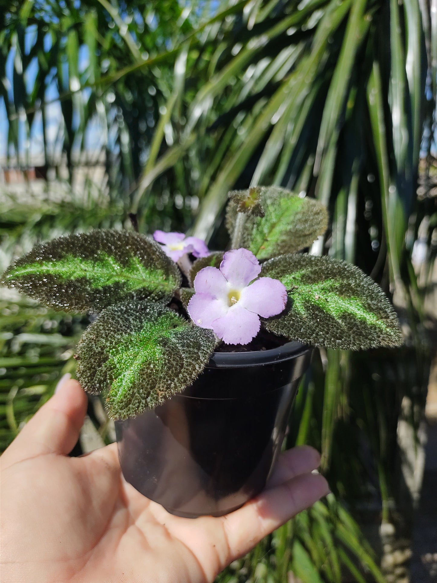
[[[68,454],[79,437],[86,408],[87,397],[79,382],[62,377],[52,398],[6,449],[3,463],[15,463],[37,455]]]

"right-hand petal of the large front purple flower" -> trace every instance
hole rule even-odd
[[[238,303],[263,318],[276,316],[286,307],[286,286],[279,279],[259,278],[241,291]]]

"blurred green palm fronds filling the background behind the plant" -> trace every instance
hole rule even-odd
[[[129,213],[142,232],[191,230],[221,248],[227,192],[276,184],[327,205],[329,230],[310,251],[360,266],[400,315],[399,350],[315,355],[287,447],[322,451],[333,494],[235,561],[221,583],[406,580],[435,341],[432,2],[0,8],[2,268],[37,240],[132,228]],[[4,290],[0,310],[5,448],[74,371],[87,318]],[[96,400],[86,426],[94,444],[113,438]],[[397,574],[387,568],[394,552]]]

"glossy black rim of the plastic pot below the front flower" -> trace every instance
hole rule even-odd
[[[297,340],[269,350],[249,352],[214,352],[206,368],[246,368],[291,360],[313,349]]]

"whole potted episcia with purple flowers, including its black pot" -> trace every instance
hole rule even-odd
[[[299,253],[323,205],[230,193],[230,249],[182,233],[94,230],[36,245],[2,283],[98,314],[77,378],[103,392],[128,482],[174,514],[221,515],[265,486],[313,346],[399,346],[389,301],[354,265]]]

